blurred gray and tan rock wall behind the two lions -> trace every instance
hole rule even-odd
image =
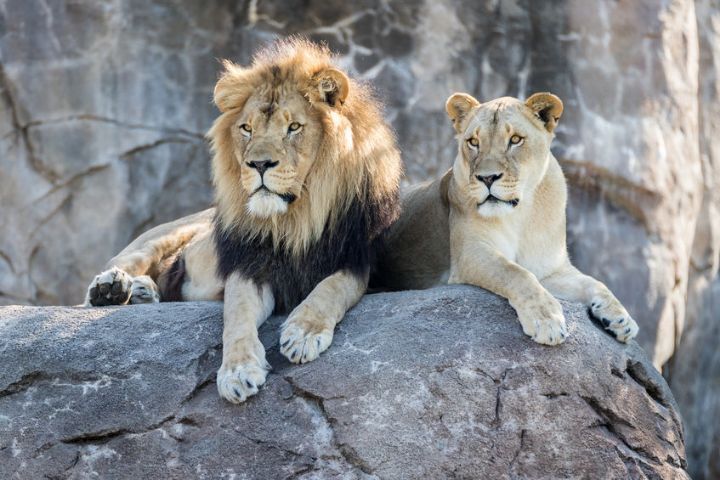
[[[445,99],[552,91],[574,262],[664,366],[720,478],[718,0],[0,0],[0,304],[75,304],[133,237],[212,199],[219,58],[327,42],[372,82],[407,181],[453,161]]]

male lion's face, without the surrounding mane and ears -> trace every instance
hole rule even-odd
[[[287,212],[303,185],[322,137],[322,125],[298,92],[248,99],[232,126],[233,149],[247,211],[256,217]]]

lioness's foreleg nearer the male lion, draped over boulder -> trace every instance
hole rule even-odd
[[[482,258],[478,262],[478,258]],[[485,245],[453,260],[448,283],[468,283],[508,299],[523,332],[538,343],[557,345],[565,341],[567,328],[562,306],[530,271]]]

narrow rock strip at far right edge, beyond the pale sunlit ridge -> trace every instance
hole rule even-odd
[[[683,335],[671,386],[683,411],[694,478],[720,478],[720,9],[697,2],[700,37],[700,158],[703,204],[693,242]]]

